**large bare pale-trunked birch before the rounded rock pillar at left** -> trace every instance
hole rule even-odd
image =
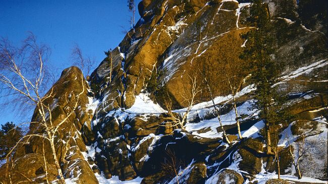
[[[42,97],[40,92],[43,85],[46,68],[44,65],[45,60],[43,56],[45,53],[45,45],[38,44],[36,37],[30,33],[28,38],[24,41],[24,45],[21,48],[12,46],[8,40],[3,39],[0,42],[0,82],[3,85],[4,91],[9,95],[17,95],[23,101],[35,107],[35,113],[38,118],[35,122],[30,124],[36,125],[36,128],[41,129],[41,133],[31,133],[23,136],[18,143],[7,154],[7,175],[10,183],[12,183],[12,175],[9,168],[9,163],[14,163],[12,153],[23,143],[29,142],[33,137],[46,140],[50,144],[51,154],[54,160],[54,164],[58,170],[60,181],[65,182],[64,175],[62,173],[61,165],[56,153],[56,143],[59,141],[59,134],[61,126],[75,113],[75,109],[78,106],[78,101],[85,92],[85,81],[83,74],[81,74],[81,92],[76,96],[76,102],[72,109],[69,109],[60,122],[52,121],[51,104],[47,103],[47,99],[54,97],[54,88],[52,87],[47,94]],[[13,165],[13,164],[12,164]]]

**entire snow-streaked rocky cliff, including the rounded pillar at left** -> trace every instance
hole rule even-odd
[[[249,108],[253,100],[253,87],[247,81],[249,71],[239,58],[247,46],[240,34],[254,29],[247,26],[250,4],[245,2],[143,0],[138,5],[141,19],[113,50],[112,76],[109,56],[91,74],[89,82],[81,78],[76,67],[63,71],[53,86],[56,95],[48,99],[55,124],[65,118],[66,110],[85,88],[78,98],[79,108],[61,126],[56,142],[67,182],[261,183],[276,176],[275,158],[264,153],[264,124],[257,117],[258,111]],[[288,96],[286,108],[295,115],[291,122],[271,130],[280,139],[283,178],[295,180],[288,140],[295,152],[305,137],[311,154],[300,163],[301,181],[324,182],[328,180],[326,2],[264,3],[274,24],[272,34],[277,36],[274,59],[286,66],[277,85]],[[317,8],[317,3],[323,8]],[[311,10],[313,7],[317,9]],[[226,81],[222,70],[228,75],[238,73],[233,82],[238,88],[235,98],[243,115],[244,138],[231,146],[223,139],[208,94],[191,109],[186,130],[158,126],[167,121],[168,109],[162,98],[147,92],[150,79],[160,72],[166,74],[173,112],[183,115],[187,104],[181,90],[188,88],[184,84],[189,75],[204,66],[224,128],[233,141],[237,139],[236,116],[229,84],[222,82]],[[35,112],[32,121],[38,118]],[[29,134],[42,131],[30,126]],[[46,144],[33,138],[16,151],[10,169],[13,183],[46,183],[45,174],[59,182],[50,152],[42,150]],[[178,178],[163,169],[163,163],[173,159],[168,150],[179,163]],[[9,183],[6,164],[0,171],[0,181]]]

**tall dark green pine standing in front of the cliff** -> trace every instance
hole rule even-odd
[[[274,55],[274,37],[270,35],[272,26],[267,8],[261,0],[253,0],[248,21],[255,28],[242,35],[247,42],[240,57],[247,60],[251,71],[250,82],[256,87],[253,108],[260,110],[259,117],[265,123],[267,154],[274,154],[271,151],[270,127],[274,128],[274,125],[278,125],[282,120],[280,110],[283,100],[274,87],[281,66],[272,59]]]

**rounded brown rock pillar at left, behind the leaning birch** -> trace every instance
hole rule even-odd
[[[58,138],[54,139],[54,144],[57,148],[57,157],[62,165],[62,172],[66,178],[76,178],[78,183],[98,183],[81,153],[87,151],[80,131],[89,118],[86,106],[88,88],[82,72],[76,67],[71,67],[63,71],[60,79],[47,93],[51,94],[51,97],[43,102],[52,108],[53,126],[59,125],[64,120],[59,127]],[[79,108],[74,108],[75,103]],[[71,110],[74,110],[73,113]],[[66,118],[68,114],[70,115]],[[32,122],[38,121],[39,118],[38,111],[35,110]],[[30,124],[28,134],[38,134],[44,131],[39,124]],[[18,165],[16,164],[16,168],[10,171],[14,173],[11,177],[12,181],[17,183],[29,179],[35,182],[44,182],[46,181],[46,170],[48,180],[56,179],[58,171],[50,150],[49,142],[41,137],[32,136],[26,144],[22,144],[14,155],[14,162]],[[1,178],[9,179],[6,176]]]

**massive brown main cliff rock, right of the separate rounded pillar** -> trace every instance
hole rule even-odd
[[[322,98],[327,91],[323,87],[326,80],[323,73],[326,71],[324,62],[327,54],[322,52],[327,42],[326,36],[320,31],[310,30],[304,26],[295,1],[268,0],[265,3],[274,25],[271,34],[278,38],[275,43],[277,53],[274,59],[285,63],[283,81],[277,85],[282,94],[291,94],[287,102],[288,110],[293,115],[302,116],[303,119],[313,119],[318,114],[324,115],[324,110],[320,113],[312,111],[326,106],[325,99]],[[188,132],[174,131],[175,128],[159,127],[158,125],[167,121],[165,113],[127,113],[124,119],[119,118],[122,117],[120,114],[125,113],[124,109],[134,104],[135,96],[147,86],[148,79],[154,72],[168,71],[166,85],[174,108],[186,105],[180,91],[184,85],[187,86],[188,75],[198,69],[201,69],[201,72],[208,72],[211,76],[210,87],[214,96],[230,93],[228,83],[222,82],[226,81],[226,77],[222,75],[223,70],[228,75],[239,74],[233,81],[238,90],[249,85],[249,71],[245,71],[243,60],[239,58],[245,43],[247,45],[240,34],[252,29],[247,21],[248,9],[248,4],[239,4],[237,1],[140,2],[138,11],[142,19],[113,51],[115,67],[112,83],[108,83],[108,57],[91,75],[91,88],[100,101],[95,111],[97,116],[93,117],[93,120],[97,121],[94,135],[97,147],[102,150],[99,158],[100,155],[105,155],[106,158],[102,160],[106,160],[107,164],[99,166],[100,170],[110,173],[109,175],[115,174],[115,171],[105,169],[112,168],[112,162],[108,160],[112,160],[113,156],[103,152],[106,146],[112,144],[110,141],[118,137],[124,142],[120,144],[130,147],[126,151],[122,149],[124,155],[128,155],[124,158],[132,162],[129,167],[135,169],[137,175],[144,177],[144,183],[166,180],[160,172],[160,163],[165,158],[165,150],[168,148],[174,150],[177,158],[186,163],[196,158],[198,161],[205,160],[207,165],[219,161],[224,161],[222,165],[229,165],[231,161],[227,161],[226,158],[228,155],[234,155],[234,161],[238,163],[240,170],[252,175],[261,172],[263,160],[267,160],[266,164],[271,163],[270,156],[263,154],[261,138],[239,141],[235,135],[229,135],[232,141],[239,144],[227,148],[222,145],[225,144],[225,140],[198,138]],[[319,19],[315,21],[320,24]],[[313,70],[307,72],[307,69],[304,69],[305,72],[300,75],[290,74],[316,62]],[[308,91],[311,91],[310,95],[313,95],[313,98],[302,99],[301,96]],[[302,95],[298,97],[293,96],[300,93]],[[154,101],[163,103],[162,99],[151,95]],[[238,98],[237,101],[242,104],[251,98],[245,96]],[[208,94],[202,93],[201,101],[207,100]],[[231,110],[229,103],[222,102],[222,106],[229,107],[228,111]],[[222,110],[221,113],[227,112]],[[207,115],[207,118],[210,118],[215,114]],[[193,119],[196,124],[204,118],[197,117]],[[255,119],[242,121],[242,129],[247,130],[255,122]],[[278,131],[281,133],[287,127],[288,124],[284,124],[282,127],[275,127],[275,130],[281,129]],[[225,129],[229,134],[237,134],[236,125],[226,125]],[[197,133],[208,131],[211,129],[204,128]],[[222,131],[220,126],[217,126],[216,131]],[[183,153],[181,150],[184,150]],[[288,157],[287,152],[285,156]],[[126,161],[119,162],[119,168],[126,166],[125,163],[129,165]],[[283,165],[286,169],[290,166],[289,162],[286,166]],[[275,169],[272,167],[271,170]],[[211,169],[207,173],[214,174]],[[119,175],[123,178],[122,173]]]

